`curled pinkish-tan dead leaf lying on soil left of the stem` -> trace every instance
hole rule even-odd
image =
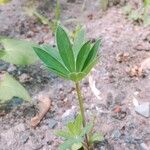
[[[39,112],[31,119],[31,127],[36,127],[51,107],[51,100],[47,96],[39,96]]]

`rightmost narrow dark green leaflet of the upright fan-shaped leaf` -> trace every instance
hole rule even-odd
[[[89,52],[89,55],[84,63],[82,71],[89,65],[89,63],[91,63],[97,57],[99,47],[100,47],[100,40],[97,40],[97,42],[95,42],[95,44],[91,48],[91,51]]]

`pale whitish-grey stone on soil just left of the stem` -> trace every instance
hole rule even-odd
[[[74,110],[74,108],[69,109],[67,111],[65,111],[65,113],[62,115],[62,123],[64,125],[68,124],[71,121],[74,121],[76,118],[76,112]]]

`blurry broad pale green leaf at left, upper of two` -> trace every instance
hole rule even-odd
[[[32,48],[33,46],[38,46],[37,44],[10,38],[0,38],[0,43],[5,48],[5,55],[1,57],[1,59],[8,63],[29,65],[38,60],[38,57]]]

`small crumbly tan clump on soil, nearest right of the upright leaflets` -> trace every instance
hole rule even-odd
[[[119,63],[126,62],[128,60],[129,60],[129,53],[122,52],[116,55],[116,61]]]

